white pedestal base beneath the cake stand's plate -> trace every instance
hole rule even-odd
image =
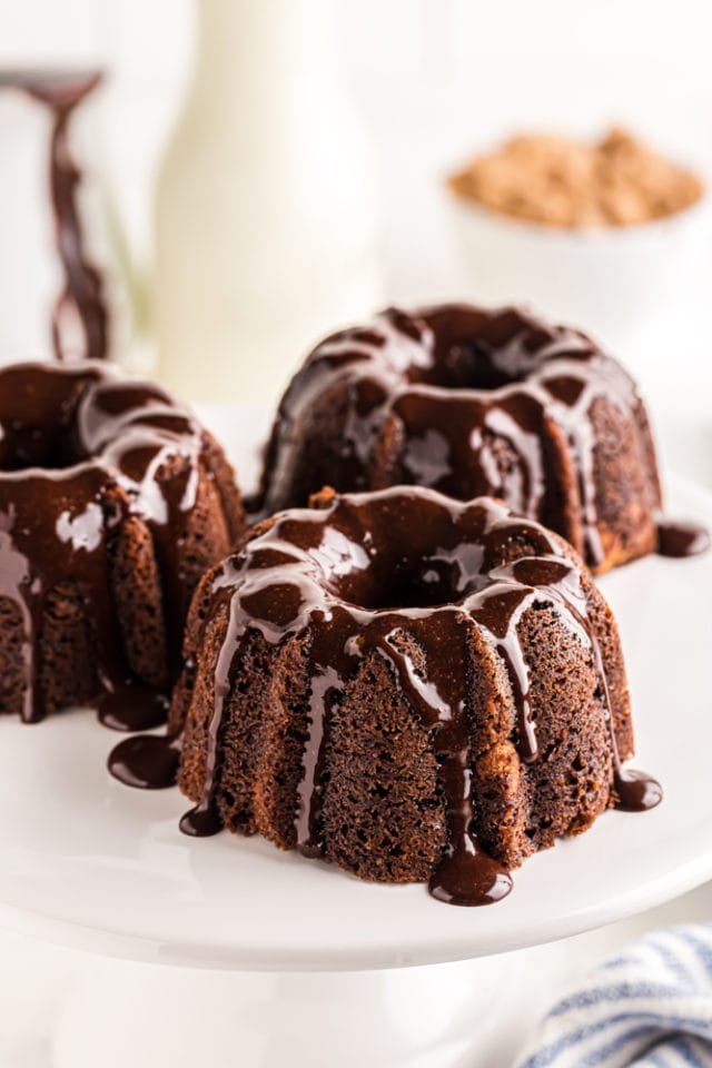
[[[380,972],[235,973],[99,961],[52,1068],[504,1068],[521,955]]]

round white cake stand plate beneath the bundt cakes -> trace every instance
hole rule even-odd
[[[712,525],[712,496],[673,482],[669,512]],[[622,631],[637,756],[665,790],[606,813],[515,872],[496,906],[359,882],[259,839],[178,831],[177,790],[105,771],[117,735],[77,711],[0,723],[0,921],[101,952],[217,968],[357,969],[458,960],[561,938],[712,877],[712,554],[651,557],[602,582]]]

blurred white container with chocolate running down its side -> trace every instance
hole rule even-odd
[[[86,247],[87,234],[96,235],[99,220],[80,206],[86,182],[73,150],[77,112],[81,118],[85,101],[91,100],[100,81],[97,70],[0,70],[0,123],[8,145],[2,176],[3,342],[20,350],[42,352],[49,328],[60,359],[66,355],[103,359],[109,353],[108,273],[97,266],[96,250]],[[22,164],[27,174],[20,182],[16,172]],[[32,270],[38,253],[46,279]],[[38,306],[28,306],[34,297]],[[31,339],[28,329],[40,326],[37,340]]]

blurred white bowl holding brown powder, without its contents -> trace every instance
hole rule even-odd
[[[712,253],[705,195],[652,222],[570,230],[498,215],[449,195],[473,299],[531,304],[619,345],[693,287]]]

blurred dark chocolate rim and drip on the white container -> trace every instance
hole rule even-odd
[[[57,251],[65,286],[52,312],[52,342],[59,359],[65,334],[78,320],[83,335],[82,358],[102,359],[108,349],[108,313],[101,275],[89,261],[82,233],[77,188],[81,172],[73,161],[69,128],[75,109],[98,86],[98,71],[4,71],[0,87],[24,90],[51,112],[50,190],[55,211]]]

